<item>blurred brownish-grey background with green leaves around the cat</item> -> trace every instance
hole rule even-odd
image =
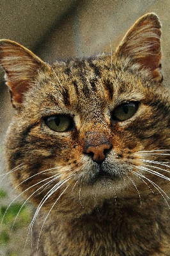
[[[141,15],[155,12],[162,22],[162,70],[169,86],[170,0],[1,0],[0,38],[19,42],[43,61],[53,63],[73,56],[89,56],[116,49],[121,38]],[[0,70],[0,172],[5,172],[3,138],[12,118],[8,90]],[[1,218],[15,195],[8,178],[0,176]],[[2,179],[1,179],[2,178]],[[0,231],[0,255],[30,255],[30,244],[22,252],[31,207],[20,211],[18,200],[6,212]]]

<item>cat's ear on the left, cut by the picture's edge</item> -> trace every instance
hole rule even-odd
[[[33,86],[38,72],[49,68],[33,52],[10,40],[0,40],[0,66],[4,69],[14,108],[20,108],[24,93]]]

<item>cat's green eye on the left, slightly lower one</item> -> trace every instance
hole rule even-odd
[[[56,132],[66,132],[73,127],[73,120],[70,116],[54,115],[45,118],[45,124]]]

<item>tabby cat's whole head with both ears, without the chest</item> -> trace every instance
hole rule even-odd
[[[116,196],[166,188],[161,164],[169,161],[170,99],[161,84],[160,35],[157,15],[148,13],[114,55],[54,65],[0,41],[15,108],[6,136],[8,171],[38,209],[79,215]]]

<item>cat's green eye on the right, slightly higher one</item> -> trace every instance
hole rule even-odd
[[[136,113],[138,106],[138,102],[123,103],[114,109],[112,119],[123,122],[128,118],[131,118]]]

